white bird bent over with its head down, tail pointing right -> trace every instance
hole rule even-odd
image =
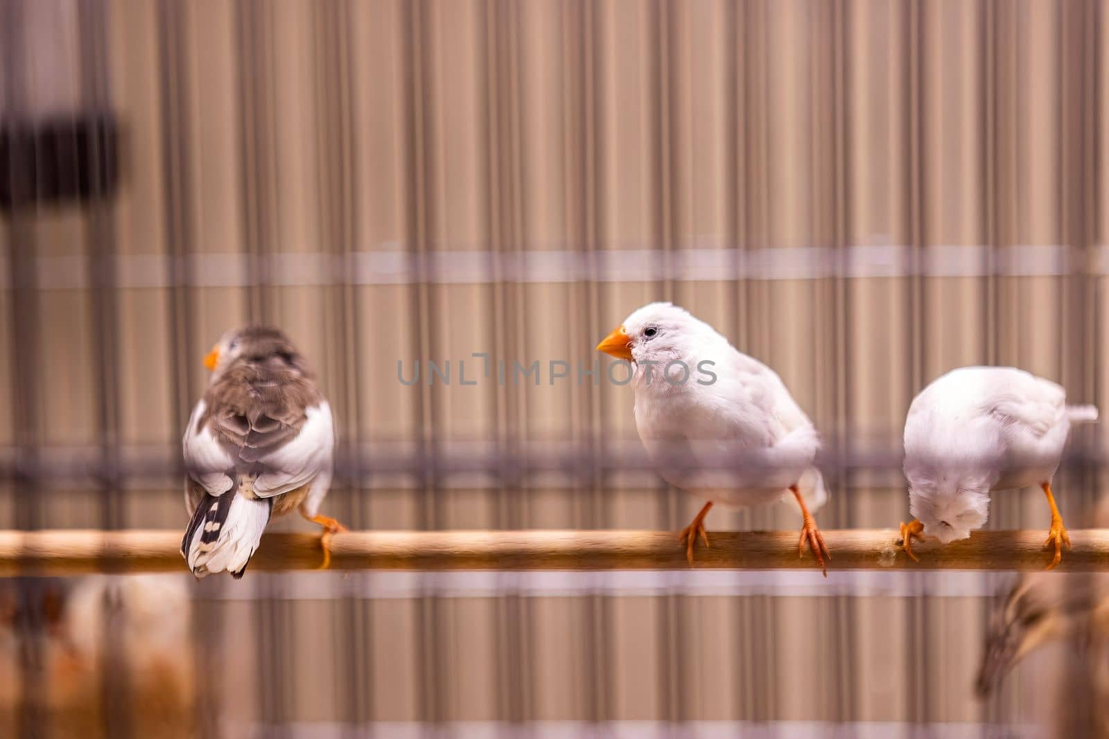
[[[1070,536],[1051,493],[1071,423],[1098,418],[1093,406],[1068,406],[1059,384],[1014,367],[962,367],[934,380],[905,419],[903,469],[913,521],[901,524],[902,546],[914,561],[913,538],[944,544],[967,538],[989,514],[993,491],[1039,485],[1051,510],[1045,548],[1051,569]]]

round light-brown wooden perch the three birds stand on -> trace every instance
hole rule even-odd
[[[1042,531],[980,531],[942,546],[915,543],[912,562],[895,530],[825,531],[836,569],[1042,569]],[[0,576],[180,572],[179,531],[0,532]],[[1109,569],[1109,530],[1071,531],[1058,572]],[[811,569],[797,556],[797,532],[710,532],[695,550],[699,568]],[[333,569],[686,569],[678,534],[653,531],[365,531],[330,540]],[[252,571],[313,569],[318,534],[266,534]]]

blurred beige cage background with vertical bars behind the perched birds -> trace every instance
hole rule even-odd
[[[782,374],[825,439],[822,527],[895,526],[905,411],[944,371],[1105,402],[1107,23],[1103,0],[0,0],[0,528],[183,530],[201,360],[247,321],[318,371],[324,512],[352,528],[680,528],[701,501],[645,464],[631,390],[577,376],[657,299]],[[1072,528],[1101,439],[1056,479]],[[989,526],[1048,517],[1024,491]],[[1006,577],[831,565],[7,581],[0,735],[1093,736],[1066,645],[974,697]]]

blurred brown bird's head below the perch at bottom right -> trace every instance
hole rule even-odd
[[[1025,655],[1067,632],[1067,617],[1055,605],[1051,585],[1042,577],[1021,577],[990,615],[975,681],[979,698],[989,696]]]

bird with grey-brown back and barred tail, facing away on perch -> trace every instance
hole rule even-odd
[[[346,531],[319,514],[332,482],[335,425],[315,376],[276,328],[227,331],[204,358],[207,390],[182,440],[185,505],[181,554],[197,578],[226,571],[236,579],[269,519],[299,509],[328,537]]]

